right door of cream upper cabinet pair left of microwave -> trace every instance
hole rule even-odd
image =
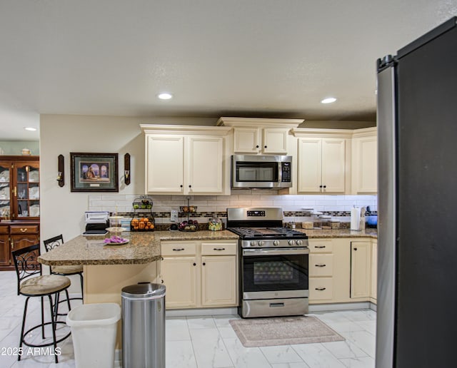
[[[220,137],[189,137],[184,193],[223,193],[224,140]]]

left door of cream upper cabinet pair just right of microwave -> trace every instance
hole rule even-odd
[[[321,192],[321,138],[298,140],[298,193]]]

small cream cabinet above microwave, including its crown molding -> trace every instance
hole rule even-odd
[[[220,118],[218,126],[233,127],[233,153],[287,155],[289,131],[300,119]]]

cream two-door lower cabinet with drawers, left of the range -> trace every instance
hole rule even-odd
[[[162,242],[166,308],[236,307],[238,242]]]

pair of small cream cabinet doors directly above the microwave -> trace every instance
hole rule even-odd
[[[286,155],[288,128],[233,128],[233,153]]]

